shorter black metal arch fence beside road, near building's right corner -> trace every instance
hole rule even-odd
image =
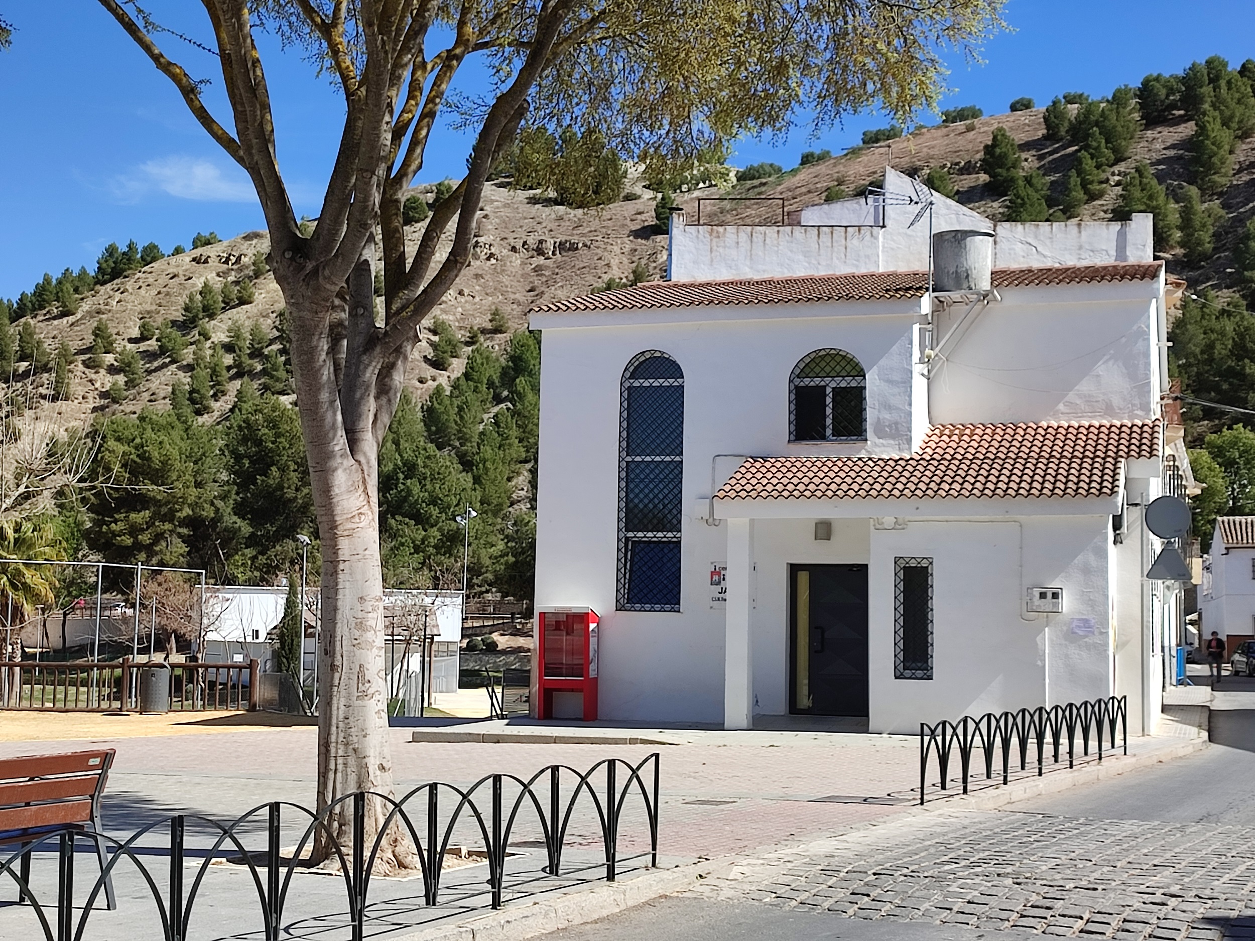
[[[1067,744],[1068,768],[1074,767],[1077,747],[1089,755],[1089,739],[1094,739],[1098,760],[1103,757],[1103,743],[1108,752],[1116,748],[1116,729],[1119,728],[1123,753],[1128,754],[1128,698],[1108,696],[1083,703],[1020,709],[1014,713],[985,713],[975,718],[965,715],[958,721],[944,720],[936,725],[920,723],[920,803],[924,803],[929,759],[936,757],[937,787],[948,788],[950,759],[958,752],[963,793],[968,793],[971,778],[973,753],[979,748],[985,764],[985,779],[994,777],[994,758],[1001,752],[1003,784],[1010,779],[1013,755],[1019,754],[1019,770],[1028,768],[1029,748],[1037,748],[1037,773],[1044,773],[1045,755],[1053,763],[1060,762]],[[1106,734],[1106,736],[1104,736]]]

